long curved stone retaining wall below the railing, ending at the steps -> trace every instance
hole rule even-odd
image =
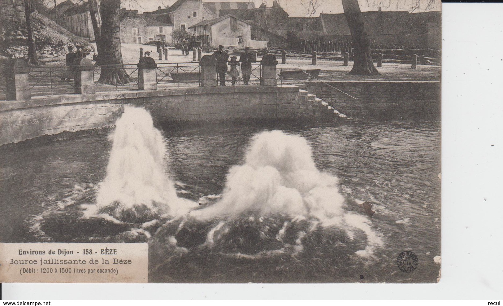
[[[211,87],[33,97],[0,103],[0,145],[44,135],[109,128],[123,105],[149,110],[162,123],[287,118],[337,120],[320,101],[289,87]],[[318,99],[319,100],[319,99]],[[332,116],[333,115],[333,116]]]

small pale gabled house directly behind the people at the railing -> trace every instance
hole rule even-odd
[[[226,47],[265,48],[267,41],[251,39],[251,25],[233,15],[201,21],[189,27],[191,33],[210,48]]]

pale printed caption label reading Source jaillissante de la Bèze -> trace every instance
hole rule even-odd
[[[146,243],[0,243],[0,282],[146,283]]]

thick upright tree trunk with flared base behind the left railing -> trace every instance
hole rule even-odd
[[[101,1],[100,13],[102,16],[102,25],[97,45],[101,45],[101,48],[98,48],[98,61],[102,69],[98,83],[112,85],[131,83],[122,61],[120,6],[120,0]]]

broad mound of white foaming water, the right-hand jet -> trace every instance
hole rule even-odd
[[[357,254],[370,255],[374,247],[382,245],[381,238],[372,231],[367,217],[348,213],[344,206],[338,178],[316,169],[307,141],[275,130],[258,134],[244,165],[230,169],[222,198],[191,211],[190,216],[200,220],[223,216],[232,219],[253,211],[291,218],[314,217],[321,226],[344,228],[349,235],[355,228],[363,231],[369,247]],[[281,236],[280,231],[278,239]]]

